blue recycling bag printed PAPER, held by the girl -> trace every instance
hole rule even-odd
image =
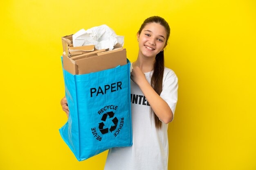
[[[63,69],[63,76],[70,114],[59,132],[76,159],[131,146],[130,63],[82,75]]]

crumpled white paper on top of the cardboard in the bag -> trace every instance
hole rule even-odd
[[[120,43],[124,46],[124,36],[116,35],[107,25],[95,26],[88,30],[81,29],[73,35],[73,46],[88,46],[94,45],[97,50],[113,47]]]

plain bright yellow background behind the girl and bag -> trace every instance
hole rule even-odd
[[[166,66],[179,78],[170,170],[256,170],[256,1],[1,2],[0,170],[102,170],[79,162],[58,129],[67,118],[61,37],[107,24],[135,61],[146,17],[171,26]]]

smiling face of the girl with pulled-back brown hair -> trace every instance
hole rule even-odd
[[[137,33],[139,56],[155,58],[166,46],[166,34],[166,30],[161,24],[155,22],[146,24],[141,33]]]

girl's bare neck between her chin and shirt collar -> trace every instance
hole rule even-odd
[[[138,55],[137,60],[133,63],[133,66],[137,66],[142,72],[150,72],[154,68],[155,57],[140,57]]]

